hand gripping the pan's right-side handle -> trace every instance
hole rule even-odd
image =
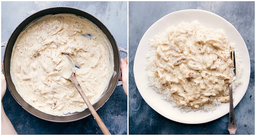
[[[125,59],[121,58],[120,59],[120,64],[121,64],[121,78],[119,79],[120,81],[123,81],[123,89],[125,94],[127,95],[127,57]]]

